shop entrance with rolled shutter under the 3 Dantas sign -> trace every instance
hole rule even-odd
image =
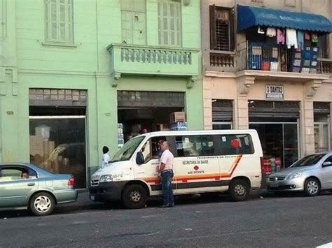
[[[298,159],[300,105],[297,101],[249,100],[249,129],[256,129],[265,160],[286,168]]]

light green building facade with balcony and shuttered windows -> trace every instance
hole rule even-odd
[[[104,145],[112,155],[177,111],[203,128],[199,0],[0,7],[1,162],[72,173],[84,188]]]

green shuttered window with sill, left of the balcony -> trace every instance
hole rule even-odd
[[[73,1],[44,0],[46,41],[74,43]]]

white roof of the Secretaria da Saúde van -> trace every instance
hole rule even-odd
[[[158,131],[144,133],[139,136],[177,136],[185,134],[244,134],[257,133],[255,129],[223,129],[223,130],[191,130],[191,131]]]

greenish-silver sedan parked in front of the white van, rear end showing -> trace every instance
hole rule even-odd
[[[0,163],[0,208],[28,207],[42,216],[77,196],[71,175],[53,174],[31,163]]]

